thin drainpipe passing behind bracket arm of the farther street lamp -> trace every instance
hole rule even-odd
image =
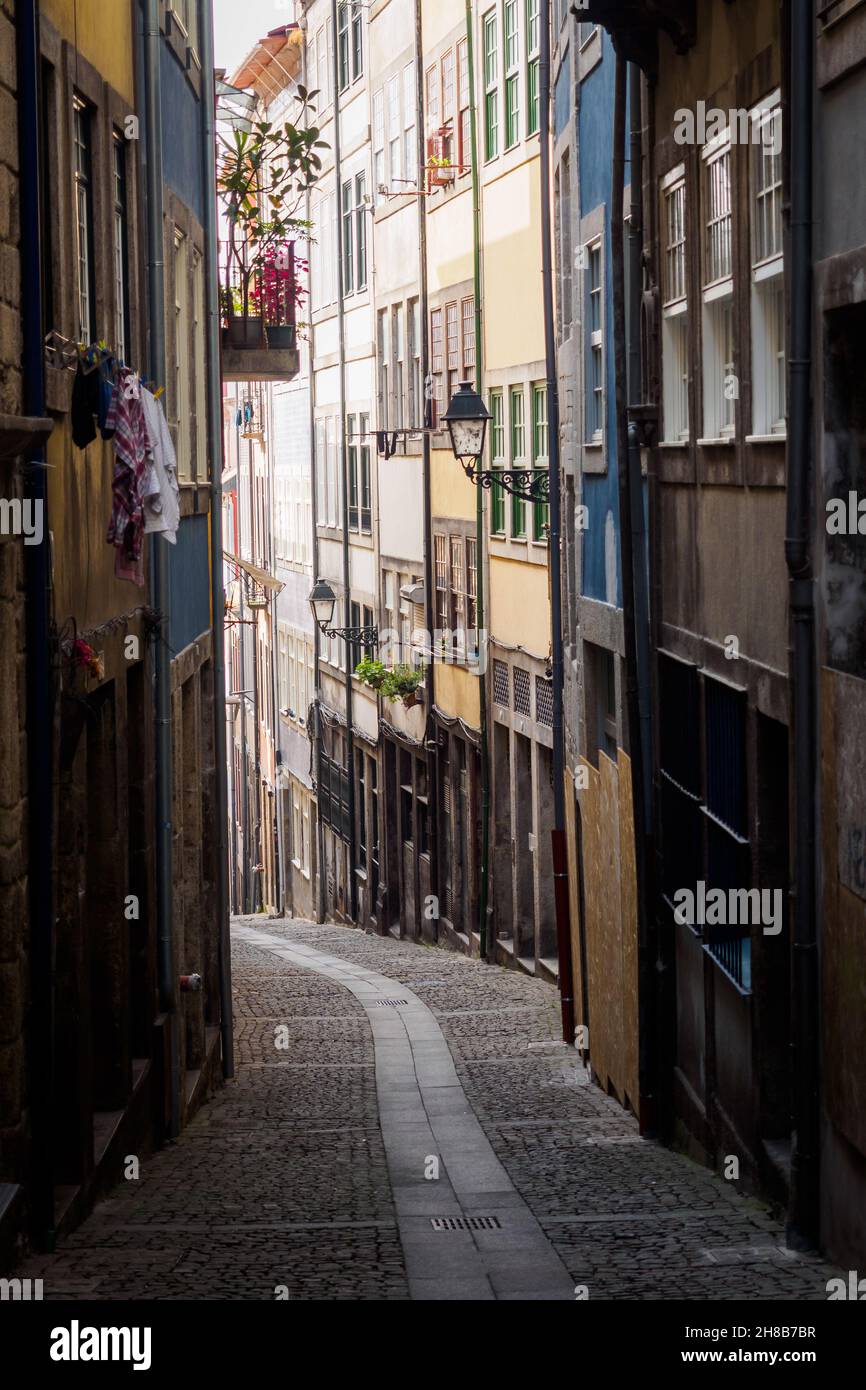
[[[342,215],[342,140],[339,129],[339,40],[336,21],[336,0],[331,0],[331,24],[334,26],[334,204],[336,208],[336,328],[339,336],[339,453],[343,495],[343,621],[352,623],[352,570],[349,560],[349,460],[346,456],[346,307],[343,303],[343,215]],[[357,919],[357,880],[354,858],[357,834],[354,828],[354,734],[352,731],[352,651],[346,644],[346,762],[349,763],[349,916]]]

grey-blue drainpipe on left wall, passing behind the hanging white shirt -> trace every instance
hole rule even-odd
[[[149,371],[153,381],[165,381],[165,261],[163,245],[163,110],[160,86],[160,13],[157,0],[145,0],[145,107],[147,131],[147,314],[150,322]],[[157,874],[157,965],[160,1008],[170,1023],[170,1120],[174,1137],[181,1129],[179,1033],[175,1005],[172,951],[172,821],[171,821],[171,653],[168,614],[171,575],[168,549],[160,535],[150,539],[150,585],[153,606],[160,614],[154,644],[154,727],[156,727],[156,874]]]

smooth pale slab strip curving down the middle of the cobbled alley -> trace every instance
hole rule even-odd
[[[573,1300],[574,1282],[475,1119],[427,1005],[313,947],[246,926],[232,935],[341,984],[367,1015],[411,1298]],[[438,1177],[425,1176],[436,1165]]]

